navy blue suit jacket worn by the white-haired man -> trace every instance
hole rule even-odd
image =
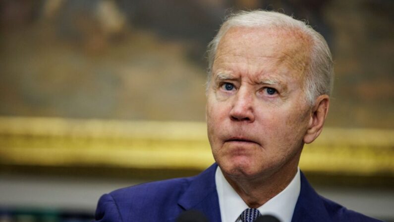
[[[220,222],[215,163],[201,174],[127,187],[103,195],[96,222],[174,222],[185,210]],[[292,222],[378,222],[319,196],[301,173],[301,191]]]

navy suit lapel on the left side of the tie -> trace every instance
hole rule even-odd
[[[216,191],[215,163],[200,175],[194,177],[189,187],[179,198],[178,204],[185,210],[202,212],[210,222],[220,222],[218,192]]]

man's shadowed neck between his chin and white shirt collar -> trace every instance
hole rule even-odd
[[[267,172],[258,178],[233,178],[225,174],[225,179],[250,208],[259,208],[284,190],[297,173],[299,153],[279,170]]]

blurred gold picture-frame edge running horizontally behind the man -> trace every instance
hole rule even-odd
[[[214,162],[201,122],[0,117],[0,163],[203,170]],[[305,172],[394,177],[394,130],[325,128]]]

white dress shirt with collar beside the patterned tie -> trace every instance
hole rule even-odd
[[[219,166],[216,169],[215,182],[222,222],[241,222],[241,213],[249,207],[227,182]],[[258,210],[262,215],[273,215],[281,222],[291,222],[300,189],[301,179],[298,168],[289,185],[281,193],[260,206]]]

